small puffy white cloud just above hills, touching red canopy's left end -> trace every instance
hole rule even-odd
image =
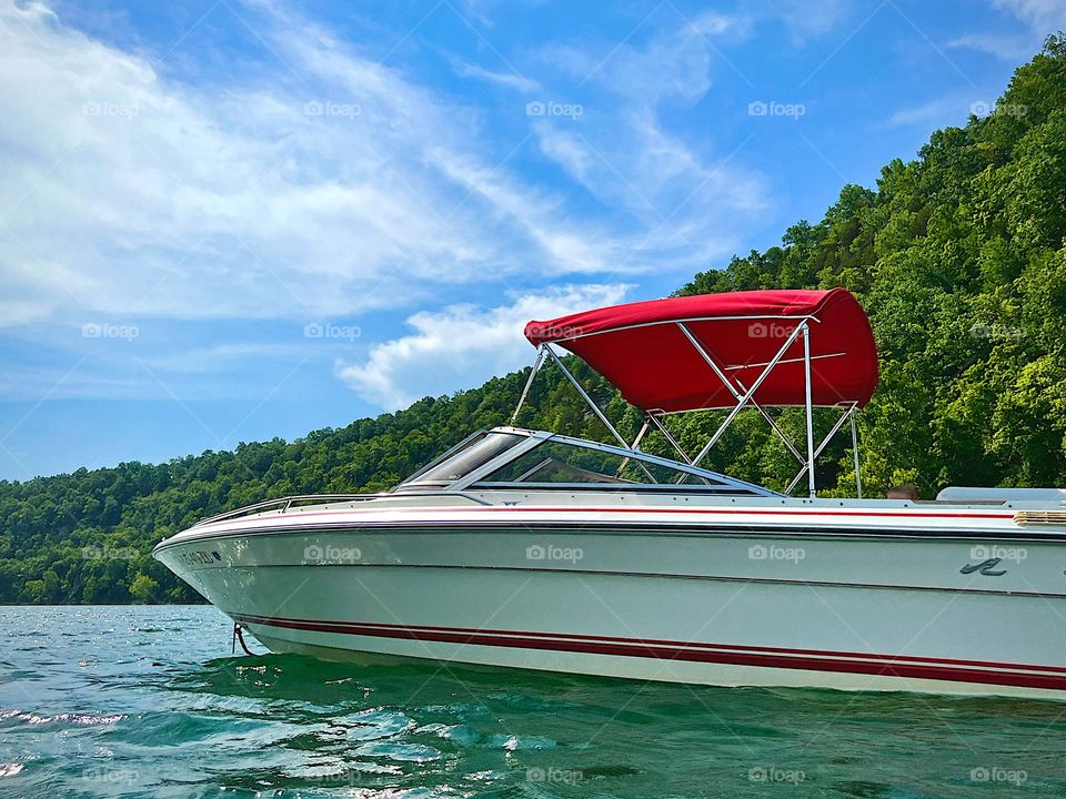
[[[619,303],[627,290],[620,284],[555,286],[494,309],[453,305],[418,313],[408,320],[414,333],[374,344],[363,363],[339,361],[336,374],[365,401],[394,411],[531,363],[533,347],[522,336],[526,322]]]

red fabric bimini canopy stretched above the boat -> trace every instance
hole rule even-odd
[[[682,325],[743,394],[803,320],[811,331],[813,404],[866,405],[877,386],[877,347],[866,313],[845,289],[628,303],[530,322],[525,337],[534,346],[553,343],[579,355],[637,408],[674,413],[736,405]],[[806,403],[802,334],[754,400],[764,406]]]

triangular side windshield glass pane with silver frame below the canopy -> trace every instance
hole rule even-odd
[[[615,453],[546,441],[504,464],[485,483],[674,483],[685,473]]]

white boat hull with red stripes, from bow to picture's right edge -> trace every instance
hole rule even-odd
[[[157,556],[274,651],[1066,698],[1066,548],[1010,514],[536,509],[241,519]]]

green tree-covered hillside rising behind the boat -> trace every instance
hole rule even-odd
[[[861,416],[869,493],[899,482],[925,496],[947,484],[1066,486],[1064,236],[1066,39],[1053,37],[989,117],[937,131],[917,160],[885,166],[876,188],[845,186],[817,224],[800,222],[781,246],[697,274],[678,293],[843,285],[859,297],[882,355],[881,387]],[[575,368],[635,432],[610,386]],[[2,482],[0,601],[197,599],[150,558],[161,537],[273,496],[385,488],[443,445],[505,423],[524,377],[292,443]],[[557,374],[539,377],[531,400],[522,424],[605,439]],[[673,422],[692,447],[715,418]],[[798,415],[782,424],[802,438]],[[853,490],[845,445],[825,458],[823,492]],[[712,465],[776,487],[794,472],[757,417],[740,419]]]

